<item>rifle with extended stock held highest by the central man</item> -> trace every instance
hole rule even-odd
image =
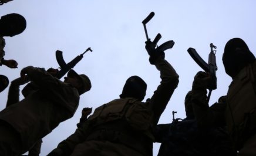
[[[147,35],[147,28],[146,28],[146,23],[150,21],[150,19],[152,19],[154,16],[154,12],[150,12],[150,14],[147,16],[147,18],[145,18],[142,23],[143,23],[143,26],[144,26],[144,31],[146,33],[146,39],[147,41],[150,41],[150,38],[149,36]],[[167,50],[167,49],[171,49],[173,48],[173,45],[174,45],[174,41],[173,40],[169,40],[167,42],[164,42],[163,44],[161,44],[160,46],[157,46],[157,42],[159,42],[159,40],[161,39],[161,34],[158,33],[156,35],[156,38],[154,38],[153,40],[153,44],[152,46],[154,46],[154,48],[156,50],[160,50],[160,51],[164,51],[164,50]],[[151,42],[151,41],[150,41]]]

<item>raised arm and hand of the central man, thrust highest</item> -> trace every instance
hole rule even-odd
[[[150,56],[149,62],[151,65],[155,65],[157,70],[160,71],[160,85],[157,87],[157,90],[154,91],[151,100],[149,100],[150,106],[154,112],[151,123],[156,125],[171,95],[178,86],[178,74],[170,63],[164,60],[164,52],[156,49],[153,42],[150,40],[147,41],[145,48]]]

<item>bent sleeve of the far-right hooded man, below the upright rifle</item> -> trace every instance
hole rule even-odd
[[[203,82],[194,80],[191,93],[191,103],[198,126],[224,126],[224,111],[227,104],[225,100],[220,100],[209,107],[207,103],[207,90],[204,86]]]

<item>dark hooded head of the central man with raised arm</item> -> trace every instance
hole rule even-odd
[[[139,76],[131,76],[124,84],[120,98],[133,97],[142,101],[146,95],[147,84]]]

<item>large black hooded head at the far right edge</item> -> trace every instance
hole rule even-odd
[[[255,61],[255,56],[244,40],[233,38],[226,43],[222,60],[225,72],[234,78],[241,69]]]

